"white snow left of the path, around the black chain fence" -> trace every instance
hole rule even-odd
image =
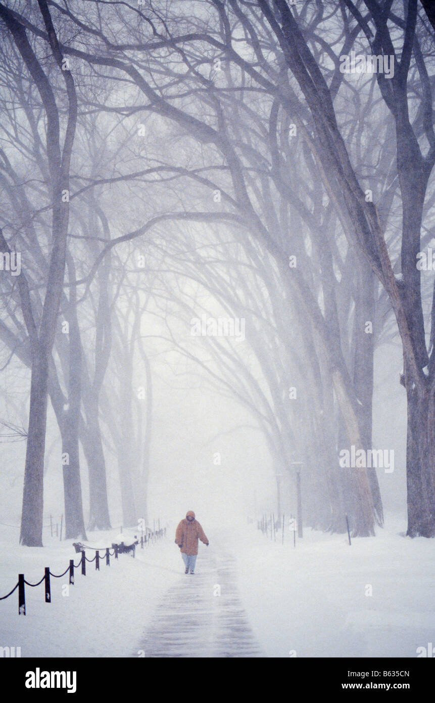
[[[119,533],[88,533],[86,544],[108,547]],[[44,581],[36,588],[25,587],[25,617],[18,615],[18,589],[7,600],[0,601],[0,646],[21,647],[22,657],[129,657],[138,649],[143,629],[152,612],[176,579],[183,564],[174,548],[171,534],[143,550],[136,548],[136,558],[120,554],[110,557],[110,567],[100,560],[86,562],[86,576],[75,569],[75,585],[62,595],[68,574],[61,579],[51,577],[51,603],[44,601]],[[18,581],[18,573],[36,583],[48,566],[61,574],[74,557],[72,542],[44,539],[49,546],[27,548],[17,546],[17,531],[1,527],[0,533],[0,596],[6,595]],[[11,540],[11,542],[8,542]],[[132,540],[131,540],[132,541]],[[129,540],[126,538],[126,542]],[[12,546],[11,546],[12,545]],[[89,558],[93,552],[86,550]]]

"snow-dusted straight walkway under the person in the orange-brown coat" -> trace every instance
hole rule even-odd
[[[236,562],[219,545],[200,549],[195,574],[182,573],[157,606],[134,656],[263,657],[237,588]]]

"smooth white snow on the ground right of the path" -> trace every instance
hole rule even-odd
[[[401,536],[394,518],[351,546],[305,529],[294,548],[288,525],[284,545],[249,527],[232,538],[238,584],[268,657],[416,657],[435,644],[434,540]]]

